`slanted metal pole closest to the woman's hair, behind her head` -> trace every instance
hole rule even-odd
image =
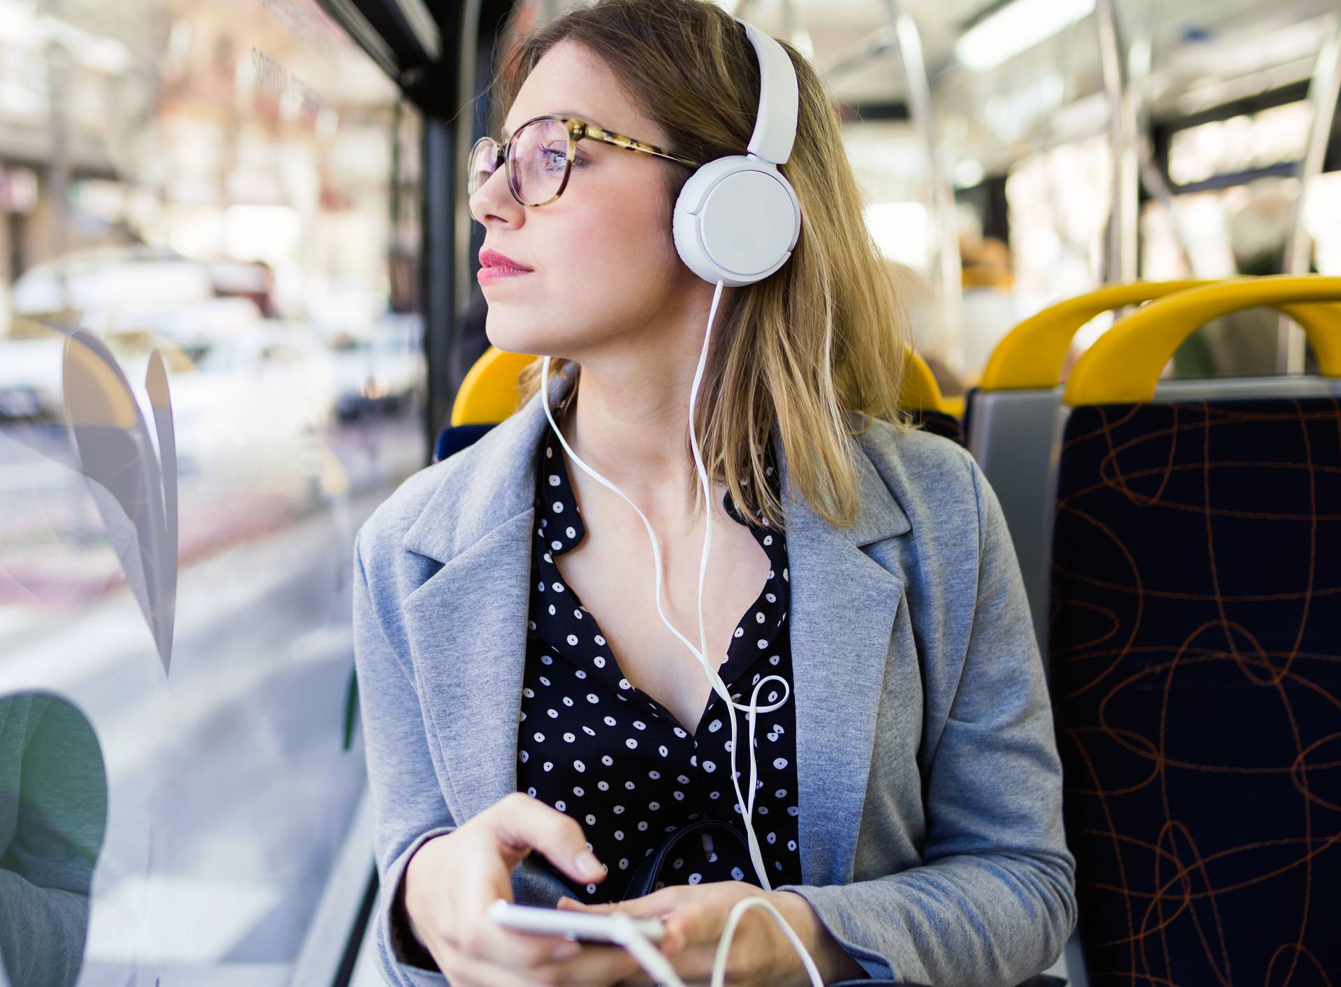
[[[932,117],[931,78],[923,55],[921,34],[900,0],[885,0],[885,12],[898,46],[904,79],[908,86],[908,113],[927,158],[927,182],[931,190],[931,256],[928,267],[932,286],[940,300],[941,335],[953,370],[964,366],[963,337],[963,268],[959,257],[959,215],[955,189],[937,153],[936,125]]]

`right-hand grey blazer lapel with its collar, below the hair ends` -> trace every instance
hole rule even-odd
[[[902,581],[862,547],[905,534],[911,524],[865,451],[856,456],[861,507],[849,528],[817,516],[803,498],[793,499],[780,455],[779,463],[789,499],[801,872],[806,884],[848,884],[866,789],[876,776],[876,717],[904,595]]]

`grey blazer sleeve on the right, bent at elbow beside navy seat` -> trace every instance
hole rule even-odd
[[[959,685],[927,778],[921,866],[789,886],[876,978],[1010,987],[1046,970],[1075,925],[1075,861],[1029,603],[996,496],[970,461],[976,585]],[[947,597],[953,598],[953,597]],[[782,888],[779,888],[782,890]]]

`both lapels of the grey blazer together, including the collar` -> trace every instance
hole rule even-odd
[[[566,377],[551,378],[551,406],[570,386]],[[540,434],[548,426],[536,396],[463,451],[449,481],[444,479],[401,542],[443,563],[406,597],[404,614],[457,819],[516,790],[534,480]],[[787,500],[802,874],[807,884],[843,882],[852,873],[884,669],[902,599],[900,578],[862,546],[904,534],[909,523],[869,456],[858,451],[857,520],[850,528],[829,524],[793,496],[782,443],[774,441]]]

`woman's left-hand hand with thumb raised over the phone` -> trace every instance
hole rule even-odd
[[[532,850],[581,884],[605,880],[582,827],[523,793],[425,842],[405,868],[405,913],[452,987],[610,987],[638,970],[624,949],[514,932],[485,909],[512,900],[512,870]]]

